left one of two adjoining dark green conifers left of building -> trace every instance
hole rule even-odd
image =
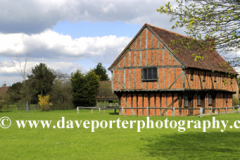
[[[77,70],[75,73],[72,73],[71,82],[74,106],[86,106],[86,104],[89,102],[89,83],[87,82],[87,78],[83,73],[81,73],[80,70]]]

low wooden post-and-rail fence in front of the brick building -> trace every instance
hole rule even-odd
[[[226,113],[234,113],[235,108],[238,108],[238,113],[240,113],[239,106],[226,107],[226,108],[156,108],[156,107],[138,107],[138,108],[119,108],[119,107],[106,107],[106,108],[96,108],[96,107],[77,107],[77,113],[79,114],[80,109],[91,109],[91,113],[93,110],[99,110],[99,114],[101,111],[105,113],[105,110],[113,110],[116,113],[116,110],[119,110],[120,115],[134,115],[134,116],[183,116],[183,115],[199,115],[202,117],[203,115],[213,115],[213,114],[226,114]],[[155,112],[154,112],[155,111]],[[159,111],[159,112],[156,112]],[[184,111],[185,112],[184,114]],[[141,113],[141,114],[139,114]],[[157,114],[156,114],[157,113]],[[187,113],[187,114],[186,114]]]

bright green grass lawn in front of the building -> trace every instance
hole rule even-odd
[[[0,111],[0,118],[12,120],[8,129],[0,128],[0,159],[239,159],[240,129],[19,129],[15,120],[146,120],[146,117],[119,116],[113,111]],[[233,124],[240,114],[216,115]],[[166,117],[150,117],[164,120]],[[212,120],[212,116],[167,117],[169,120]],[[239,124],[240,126],[240,124]]]

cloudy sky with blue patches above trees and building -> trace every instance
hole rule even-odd
[[[167,2],[0,0],[0,86],[23,80],[27,54],[29,73],[39,63],[68,75],[99,62],[107,69],[145,23],[171,30],[170,16],[156,11]]]

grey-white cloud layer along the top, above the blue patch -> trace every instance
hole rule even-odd
[[[0,0],[0,32],[39,33],[59,21],[113,22],[169,26],[156,9],[169,0]],[[172,6],[176,3],[171,0]],[[167,22],[167,23],[166,23]],[[165,27],[166,28],[166,27]]]

